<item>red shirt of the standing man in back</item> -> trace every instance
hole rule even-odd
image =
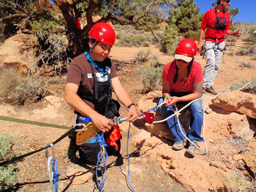
[[[218,13],[218,17],[223,17],[223,12],[222,11],[217,11]],[[225,18],[226,18],[226,25],[227,28],[225,30],[217,30],[217,29],[212,29],[208,26],[214,27],[215,21],[216,21],[216,10],[215,8],[208,10],[204,17],[203,17],[203,21],[202,21],[202,25],[201,25],[201,29],[205,30],[206,28],[206,32],[205,32],[205,38],[207,37],[211,37],[214,39],[220,39],[220,38],[224,38],[226,31],[230,29],[230,21],[229,21],[229,14],[228,11],[225,11]],[[205,41],[214,41],[213,39],[205,39]],[[218,42],[223,42],[224,39],[219,40]]]

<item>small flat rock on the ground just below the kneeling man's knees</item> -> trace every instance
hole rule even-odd
[[[75,167],[68,167],[67,177],[71,181],[72,185],[84,184],[88,182],[95,175],[95,171],[85,167],[76,165]]]

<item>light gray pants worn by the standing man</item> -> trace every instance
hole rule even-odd
[[[214,41],[205,41],[205,56],[207,58],[206,65],[204,67],[204,80],[203,87],[209,88],[213,85],[217,76],[220,62],[222,61],[223,49],[226,46],[226,42],[223,41],[218,45]]]

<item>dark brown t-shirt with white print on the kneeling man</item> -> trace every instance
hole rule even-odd
[[[110,78],[113,79],[117,77],[117,70],[110,58],[104,59],[103,62],[96,62],[99,67],[103,68],[110,74]],[[92,65],[94,73],[97,75],[98,82],[105,82],[108,80],[108,76],[104,76],[97,70],[94,65]],[[78,91],[83,92],[85,95],[94,94],[94,76],[91,73],[91,68],[85,54],[80,54],[73,58],[67,73],[66,83],[75,83],[79,86]],[[83,99],[92,109],[94,109],[94,104]]]

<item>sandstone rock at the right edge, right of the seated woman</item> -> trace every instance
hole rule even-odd
[[[256,95],[242,91],[232,91],[220,94],[212,100],[213,105],[227,111],[236,111],[256,118]]]

